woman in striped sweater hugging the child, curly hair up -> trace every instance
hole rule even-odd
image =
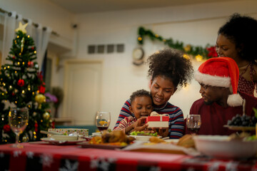
[[[148,58],[148,76],[151,78],[150,90],[153,98],[153,111],[168,114],[168,128],[158,129],[158,135],[171,139],[181,138],[184,132],[183,112],[176,105],[168,102],[178,86],[183,87],[191,81],[193,67],[191,61],[183,58],[183,54],[166,48],[153,53]],[[131,101],[126,100],[114,129],[125,117],[133,116],[129,111]]]

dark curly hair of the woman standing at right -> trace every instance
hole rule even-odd
[[[221,26],[218,34],[226,36],[230,41],[236,44],[236,48],[241,48],[239,56],[247,61],[257,59],[257,20],[251,16],[241,16],[233,14],[226,24]]]

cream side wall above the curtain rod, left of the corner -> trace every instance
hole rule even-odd
[[[61,35],[63,39],[72,41],[74,14],[51,3],[48,0],[0,0],[0,8],[6,11],[16,11],[24,19],[31,19],[42,26],[49,26]]]

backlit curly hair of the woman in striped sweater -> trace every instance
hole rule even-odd
[[[169,78],[175,87],[185,86],[193,76],[193,66],[190,60],[183,58],[183,53],[171,48],[165,48],[159,53],[153,53],[147,59],[149,63],[148,76]]]

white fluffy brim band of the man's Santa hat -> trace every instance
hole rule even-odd
[[[211,75],[196,71],[196,73],[194,74],[194,78],[199,83],[202,83],[208,86],[217,86],[217,87],[226,87],[226,88],[231,86],[230,77],[211,76]]]

